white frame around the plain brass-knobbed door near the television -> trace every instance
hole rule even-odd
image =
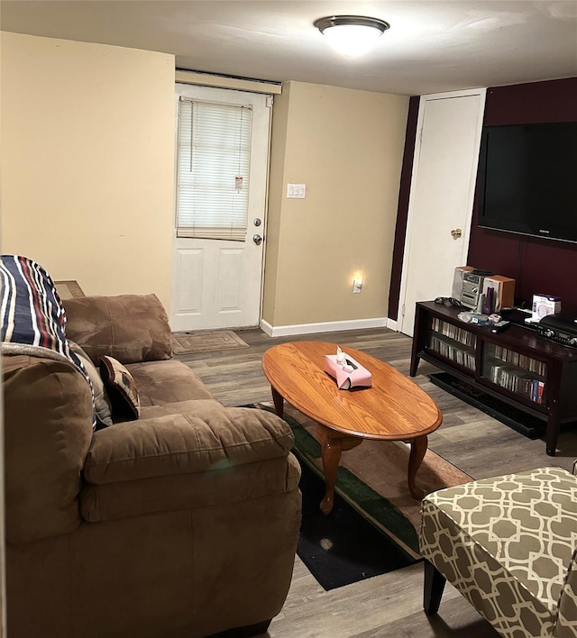
[[[487,89],[484,87],[464,89],[461,91],[444,91],[443,93],[432,93],[425,96],[420,96],[418,115],[417,115],[417,142],[415,144],[415,152],[413,154],[413,170],[411,175],[411,186],[408,196],[408,214],[407,214],[407,230],[405,233],[405,250],[403,251],[403,260],[401,268],[401,278],[398,296],[398,321],[396,322],[395,330],[401,332],[405,319],[405,304],[407,301],[407,288],[408,288],[408,267],[410,262],[410,253],[412,250],[416,250],[416,247],[412,245],[413,242],[413,230],[416,223],[416,211],[415,211],[415,192],[418,184],[418,167],[421,156],[421,138],[423,132],[423,124],[425,119],[425,107],[427,102],[434,102],[437,100],[451,99],[455,97],[466,96],[480,96],[481,101],[479,105],[479,120],[477,123],[477,131],[475,135],[475,143],[479,147],[481,144],[481,132],[484,122],[485,113],[485,96]],[[474,163],[474,170],[471,171],[471,180],[469,183],[469,196],[467,198],[467,210],[469,214],[466,216],[463,223],[463,251],[462,261],[463,263],[454,264],[454,268],[464,266],[469,252],[469,241],[471,238],[472,227],[472,207],[475,198],[475,187],[477,183],[478,173],[478,161],[479,157]],[[426,246],[419,246],[418,250],[426,250]],[[392,326],[391,326],[392,327]],[[412,328],[412,326],[411,326]]]

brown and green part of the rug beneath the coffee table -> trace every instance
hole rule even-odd
[[[274,411],[271,403],[258,406]],[[321,447],[315,437],[316,423],[287,403],[285,421],[295,434],[294,451],[299,460],[322,476]],[[344,451],[337,470],[335,492],[380,533],[386,534],[410,559],[418,560],[421,502],[411,497],[408,491],[409,452],[409,446],[402,442],[371,440]],[[434,451],[427,450],[417,472],[416,484],[428,494],[470,480],[472,477],[468,474]]]

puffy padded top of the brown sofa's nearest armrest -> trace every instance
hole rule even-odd
[[[183,401],[162,415],[96,432],[84,478],[105,485],[229,469],[286,457],[293,442],[289,424],[266,410]]]

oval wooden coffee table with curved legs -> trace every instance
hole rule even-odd
[[[425,390],[388,363],[353,348],[342,349],[371,372],[372,387],[336,387],[334,378],[324,370],[325,354],[336,354],[335,343],[282,343],[262,357],[277,415],[283,415],[286,400],[317,424],[325,473],[321,511],[326,515],[333,508],[342,452],[352,450],[363,439],[410,442],[408,489],[412,497],[424,497],[415,486],[415,477],[425,457],[427,434],[443,421],[441,411]]]

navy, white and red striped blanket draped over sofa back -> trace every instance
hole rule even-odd
[[[92,382],[78,356],[69,349],[66,314],[50,275],[40,264],[20,255],[0,258],[2,353],[67,360]],[[96,419],[93,422],[96,427]]]

